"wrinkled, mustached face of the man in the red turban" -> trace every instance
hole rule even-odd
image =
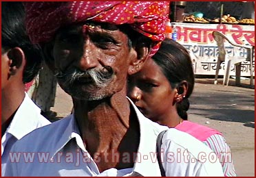
[[[98,100],[122,90],[130,55],[116,25],[74,25],[58,31],[54,67],[61,88],[76,99]],[[133,56],[133,57],[131,57]]]

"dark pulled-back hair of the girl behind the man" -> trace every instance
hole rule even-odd
[[[181,81],[187,81],[186,96],[180,103],[177,103],[179,116],[187,120],[186,111],[189,110],[189,97],[195,84],[193,66],[188,51],[178,42],[166,38],[152,59],[160,66],[162,73],[169,80],[171,88],[178,88]]]

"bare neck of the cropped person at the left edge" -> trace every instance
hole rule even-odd
[[[7,86],[1,90],[1,129],[6,131],[15,112],[25,98],[24,85]]]

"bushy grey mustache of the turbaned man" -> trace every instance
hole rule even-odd
[[[91,68],[87,71],[81,71],[78,68],[72,68],[67,71],[56,71],[55,76],[58,81],[63,81],[67,85],[79,82],[80,79],[87,79],[98,88],[103,88],[109,84],[114,77],[114,71],[110,66],[104,66],[103,69]]]

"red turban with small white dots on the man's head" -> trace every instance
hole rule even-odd
[[[25,2],[24,5],[25,25],[33,43],[49,42],[60,27],[92,20],[115,25],[130,24],[159,44],[164,40],[164,21],[169,13],[168,1],[38,1]],[[153,47],[151,55],[158,47]]]

